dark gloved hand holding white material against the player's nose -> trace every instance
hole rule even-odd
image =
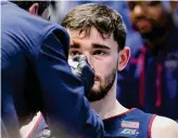
[[[68,59],[68,64],[73,73],[81,80],[85,86],[85,95],[88,96],[94,83],[94,72],[87,57],[84,55],[75,56],[73,59]]]

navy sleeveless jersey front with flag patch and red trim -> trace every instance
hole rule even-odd
[[[104,120],[105,138],[151,138],[152,122],[155,115],[139,109]]]

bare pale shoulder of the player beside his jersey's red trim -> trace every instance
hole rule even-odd
[[[152,122],[151,138],[177,138],[178,124],[168,118],[156,115]]]

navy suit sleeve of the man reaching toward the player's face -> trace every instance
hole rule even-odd
[[[39,51],[36,68],[46,116],[52,135],[102,137],[103,123],[91,110],[81,82],[67,64],[69,38],[64,29],[49,33]]]

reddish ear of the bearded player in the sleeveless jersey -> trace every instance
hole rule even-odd
[[[118,53],[118,71],[122,71],[130,58],[130,49],[126,46]]]

